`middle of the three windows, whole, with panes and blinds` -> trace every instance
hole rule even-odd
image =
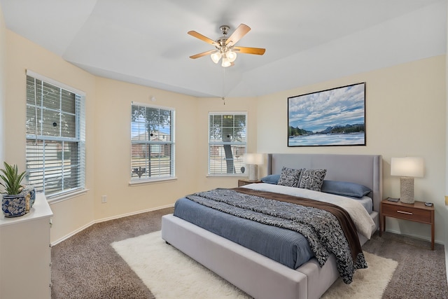
[[[131,181],[174,177],[174,109],[132,103]]]

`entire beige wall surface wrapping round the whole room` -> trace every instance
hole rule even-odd
[[[391,157],[419,155],[426,174],[415,181],[416,197],[435,202],[436,240],[444,242],[442,204],[445,182],[445,57],[432,57],[365,74],[309,85],[258,98],[195,98],[98,78],[40,46],[6,32],[5,120],[8,140],[4,158],[25,167],[25,70],[31,69],[87,93],[87,188],[84,195],[51,204],[55,214],[52,242],[94,221],[165,207],[196,190],[233,187],[237,178],[207,177],[209,111],[248,112],[248,151],[258,153],[375,153],[384,158],[384,195],[398,196],[399,179],[391,177]],[[4,45],[0,47],[1,50]],[[0,73],[1,74],[1,73]],[[286,146],[287,97],[367,83],[367,146]],[[0,75],[0,84],[1,75]],[[1,85],[0,85],[1,86]],[[151,102],[151,97],[156,102]],[[0,92],[1,99],[1,92]],[[174,181],[129,185],[130,102],[176,109],[176,177]],[[1,104],[1,102],[0,102]],[[265,169],[260,170],[260,175]],[[101,203],[107,195],[108,202]],[[427,225],[388,219],[388,228],[429,238]]]

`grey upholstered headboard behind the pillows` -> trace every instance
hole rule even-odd
[[[381,155],[269,153],[267,174],[280,174],[281,167],[327,169],[325,179],[360,183],[373,191],[373,209],[379,213],[383,199]]]

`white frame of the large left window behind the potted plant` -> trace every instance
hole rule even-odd
[[[50,152],[45,153],[45,151],[43,151],[42,155],[40,153],[38,153],[39,149],[38,146],[34,149],[34,153],[29,153],[28,150],[28,143],[34,142],[34,144],[38,143],[38,142],[42,142],[43,144],[48,143],[48,142],[60,142],[61,144],[63,144],[62,146],[62,152],[61,155],[64,155],[64,151],[66,149],[66,147],[64,146],[64,144],[66,143],[71,143],[71,144],[75,144],[76,146],[75,151],[76,151],[76,159],[78,160],[76,162],[76,186],[74,186],[73,188],[67,188],[67,189],[62,189],[59,191],[56,191],[54,193],[45,193],[45,197],[47,198],[47,200],[49,202],[55,202],[57,200],[64,200],[65,198],[69,198],[69,197],[73,197],[76,195],[79,195],[81,193],[85,193],[86,189],[85,189],[85,97],[86,97],[86,93],[83,92],[82,90],[78,90],[76,88],[72,88],[69,85],[66,85],[64,83],[60,83],[59,81],[55,81],[52,78],[48,78],[45,77],[41,74],[37,74],[34,71],[30,71],[27,69],[26,71],[26,81],[28,84],[28,77],[33,78],[34,79],[34,88],[36,88],[36,80],[41,81],[41,84],[44,85],[44,83],[48,84],[48,85],[52,85],[55,88],[60,90],[60,94],[64,92],[70,92],[74,94],[74,99],[75,99],[75,103],[74,107],[75,107],[75,112],[73,113],[73,118],[74,118],[74,127],[75,127],[75,136],[74,137],[66,137],[61,133],[59,133],[59,136],[52,136],[51,134],[45,134],[45,132],[50,132],[48,130],[46,130],[45,132],[43,131],[43,127],[41,125],[41,131],[37,132],[38,127],[35,127],[36,133],[35,134],[29,134],[28,130],[26,129],[25,134],[26,134],[26,151],[25,151],[25,157],[26,157],[26,165],[27,165],[27,181],[29,181],[29,177],[31,174],[31,160],[36,161],[41,159],[41,169],[42,169],[42,183],[38,184],[38,188],[36,188],[37,190],[39,190],[39,188],[41,188],[41,191],[45,193],[45,188],[47,188],[46,183],[48,183],[48,179],[45,179],[45,172],[48,171],[48,166],[45,166],[45,160],[48,160],[48,155],[50,155]],[[38,109],[43,109],[44,104],[43,102],[41,102],[40,106],[36,106],[37,102],[36,102],[36,95],[34,95],[35,97],[35,102],[34,105],[30,105],[28,102],[28,92],[26,92],[26,106],[27,106],[27,110],[30,107],[31,109],[34,109],[36,111],[36,108]],[[62,103],[61,103],[62,104]],[[47,107],[45,107],[45,110],[48,110]],[[50,109],[51,110],[51,109]],[[62,110],[62,106],[59,106],[58,109],[52,109],[53,112],[57,112],[61,115],[67,114],[66,111]],[[70,114],[70,113],[69,113]],[[41,118],[42,119],[42,118]],[[60,119],[60,118],[59,118]],[[26,116],[26,120],[28,121],[28,115]],[[39,134],[40,133],[40,134]],[[45,145],[46,147],[46,145]],[[45,155],[46,154],[46,155]],[[58,153],[59,154],[59,153]],[[65,174],[65,166],[62,165],[62,172],[61,174]],[[31,181],[30,183],[33,183],[34,181]],[[62,183],[62,186],[63,183]]]

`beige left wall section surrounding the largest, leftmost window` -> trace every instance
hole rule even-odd
[[[26,70],[86,92],[86,185],[84,195],[51,204],[52,241],[94,221],[94,120],[95,77],[61,57],[6,30],[6,143],[5,160],[25,169]],[[7,142],[6,142],[7,141]]]

